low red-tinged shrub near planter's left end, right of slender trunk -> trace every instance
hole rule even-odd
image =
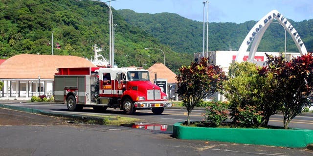
[[[204,117],[206,122],[210,122],[211,126],[220,126],[222,122],[228,118],[229,111],[227,102],[207,102]]]

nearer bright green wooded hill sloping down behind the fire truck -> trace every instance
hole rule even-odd
[[[165,53],[165,64],[172,71],[192,61],[192,55],[176,53],[159,39],[128,24],[113,8],[115,27],[115,62],[119,67],[149,68],[163,62],[159,48]],[[92,45],[104,49],[109,58],[109,8],[102,2],[76,0],[2,0],[0,1],[0,57],[18,54],[51,55],[51,37],[61,49],[54,55],[89,58]],[[48,60],[47,60],[48,61]]]

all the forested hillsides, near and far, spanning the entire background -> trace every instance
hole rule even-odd
[[[112,7],[114,7],[112,3]],[[177,14],[135,13],[114,10],[115,62],[119,67],[149,68],[163,62],[178,73],[181,65],[192,61],[192,53],[202,51],[203,23]],[[109,8],[89,0],[0,0],[0,59],[18,54],[51,55],[51,37],[61,48],[54,55],[91,58],[92,45],[103,49],[109,58]],[[308,51],[313,51],[313,20],[294,22]],[[209,51],[238,50],[257,21],[209,23]],[[288,35],[287,51],[297,51]],[[55,45],[54,45],[55,46]],[[284,29],[271,24],[258,51],[284,51]],[[48,60],[47,60],[48,61]]]

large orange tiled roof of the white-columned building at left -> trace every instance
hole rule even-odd
[[[74,56],[21,54],[0,64],[0,79],[53,79],[57,68],[95,67],[89,60]]]

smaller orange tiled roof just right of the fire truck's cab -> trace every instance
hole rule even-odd
[[[177,83],[176,74],[163,63],[156,63],[147,70],[150,73],[149,77],[151,81],[154,81],[156,74],[157,79],[167,79],[167,83]]]

